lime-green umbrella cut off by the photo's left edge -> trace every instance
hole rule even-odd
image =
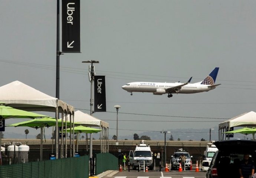
[[[42,118],[42,117],[49,117],[46,115],[42,114],[37,114],[34,112],[28,112],[28,111],[23,111],[20,109],[15,109],[10,106],[5,106],[4,103],[0,102],[0,123],[4,123],[5,119],[10,119],[10,118]],[[3,130],[4,131],[4,130]],[[2,145],[2,132],[0,132],[0,145]]]

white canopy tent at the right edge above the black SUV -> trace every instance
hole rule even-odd
[[[227,131],[230,131],[233,127],[256,127],[256,112],[250,111],[241,115],[235,116],[225,122],[219,124],[219,140],[226,140]]]

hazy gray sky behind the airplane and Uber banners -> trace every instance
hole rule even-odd
[[[55,96],[56,1],[0,4],[0,86],[19,80]],[[119,136],[213,128],[255,111],[255,46],[254,0],[81,0],[81,53],[60,56],[60,99],[89,113],[88,64],[82,61],[99,60],[95,69],[106,76],[107,112],[93,115],[109,123],[110,138],[116,134],[114,105],[121,105]],[[186,82],[191,76],[191,83],[199,82],[214,67],[220,67],[216,83],[222,85],[210,92],[167,98],[130,96],[121,88],[133,81]]]

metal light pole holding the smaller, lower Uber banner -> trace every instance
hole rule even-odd
[[[94,66],[93,66],[93,63],[99,63],[99,61],[96,61],[96,60],[88,60],[88,61],[83,61],[82,63],[91,63],[91,65],[89,66],[89,80],[91,82],[91,99],[90,99],[90,115],[92,116],[92,106],[93,106],[93,93],[92,93],[92,87],[93,87],[93,80],[94,80],[94,75],[95,75],[95,72],[94,72]],[[92,158],[92,133],[90,133],[90,152],[89,152],[89,158]]]

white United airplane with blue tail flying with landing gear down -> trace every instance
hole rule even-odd
[[[213,90],[216,86],[221,84],[215,84],[219,67],[215,67],[213,71],[201,82],[190,83],[192,77],[186,83],[160,83],[160,82],[131,82],[122,86],[122,89],[127,92],[150,92],[154,95],[163,95],[168,93],[168,98],[173,97],[173,93],[200,93]]]

